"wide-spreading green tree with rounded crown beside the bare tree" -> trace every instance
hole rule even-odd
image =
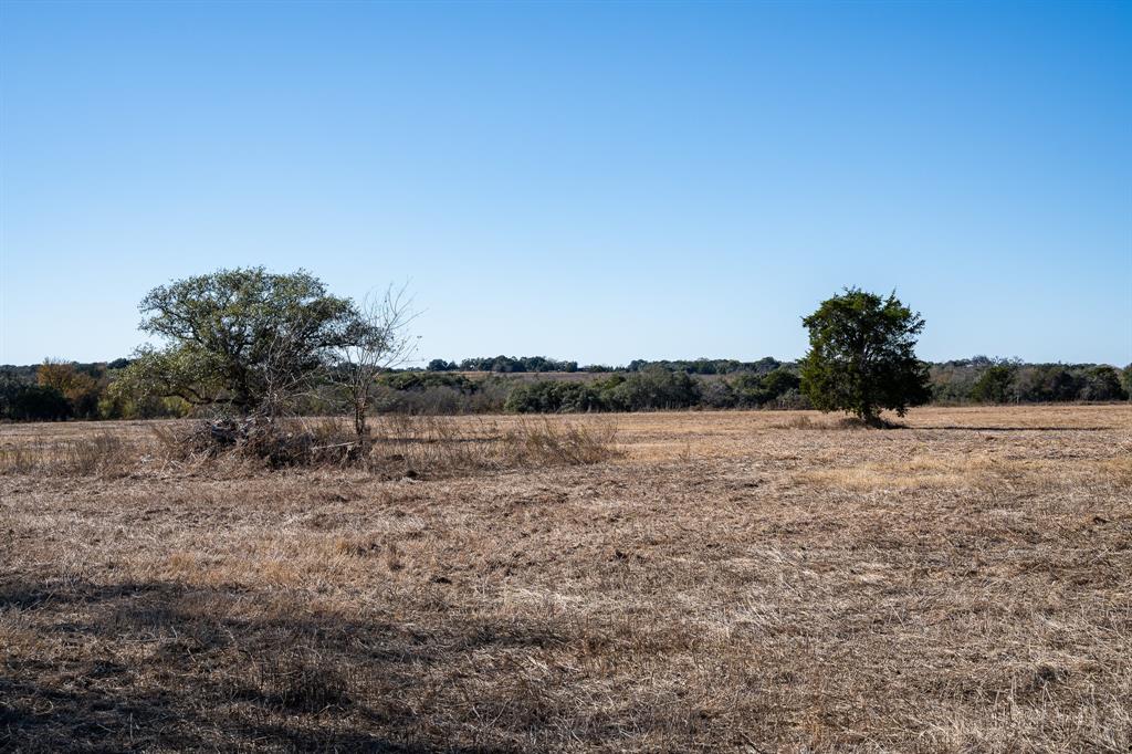
[[[263,267],[161,285],[140,310],[140,328],[164,343],[139,349],[115,387],[240,414],[278,411],[366,327],[350,299],[309,273]]]

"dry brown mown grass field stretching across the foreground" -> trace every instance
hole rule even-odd
[[[0,427],[0,749],[1132,747],[1132,408],[549,421],[620,454],[265,472]],[[22,455],[82,442],[140,460]]]

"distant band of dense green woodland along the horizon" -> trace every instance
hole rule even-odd
[[[137,399],[115,389],[128,359],[78,363],[48,360],[0,367],[0,419],[148,419],[182,417],[179,399]],[[975,357],[931,365],[933,402],[1046,403],[1126,401],[1132,365],[1023,363]],[[804,409],[798,366],[695,359],[635,360],[623,367],[578,366],[546,357],[432,360],[424,369],[389,370],[377,377],[374,410],[397,413],[576,413],[666,409]],[[309,413],[341,412],[333,386],[303,396]]]

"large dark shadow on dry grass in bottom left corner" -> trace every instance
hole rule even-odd
[[[517,748],[505,720],[490,746],[445,740],[422,725],[418,687],[483,646],[558,641],[546,628],[449,622],[438,635],[303,599],[0,581],[0,615],[19,616],[0,665],[0,752]]]

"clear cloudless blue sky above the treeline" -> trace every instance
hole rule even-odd
[[[0,362],[222,266],[411,281],[421,355],[1132,361],[1132,3],[0,3]]]

